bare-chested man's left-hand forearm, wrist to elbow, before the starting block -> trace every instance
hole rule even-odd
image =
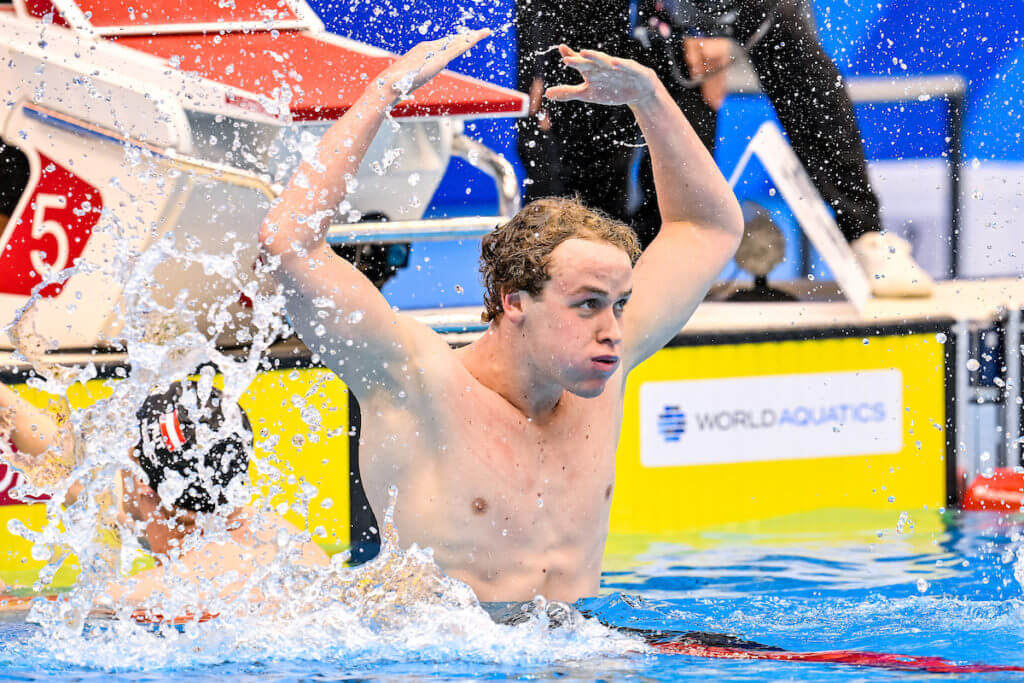
[[[347,194],[381,123],[398,101],[390,82],[375,81],[316,147],[316,163],[303,162],[267,213],[260,242],[271,254],[309,251],[326,234],[332,212]]]

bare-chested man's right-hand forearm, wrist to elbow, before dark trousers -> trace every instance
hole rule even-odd
[[[653,93],[630,109],[650,151],[663,225],[696,223],[742,234],[732,188],[665,86],[651,78]]]

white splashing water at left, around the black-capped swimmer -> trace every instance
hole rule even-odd
[[[97,231],[101,229],[112,233],[120,230],[110,220],[97,227]],[[193,375],[197,368],[202,368],[200,385],[209,385],[215,367],[223,377],[225,420],[213,437],[240,432],[238,400],[265,368],[270,344],[289,330],[281,314],[282,296],[260,287],[263,275],[274,267],[273,259],[257,264],[256,278],[248,278],[239,267],[241,243],[223,254],[200,252],[187,238],[176,239],[170,233],[141,253],[132,251],[130,241],[115,243],[118,253],[109,261],[76,265],[102,270],[112,287],[123,292],[119,305],[124,325],[116,344],[125,350],[130,370],[127,381],[105,381],[109,397],[88,408],[70,409],[69,391],[96,378],[98,370],[91,364],[82,369],[65,368],[46,356],[52,344],[33,329],[33,306],[39,290],[8,329],[18,353],[38,375],[29,381],[30,386],[57,397],[65,421],[61,428],[75,443],[68,459],[48,459],[45,467],[17,461],[9,452],[0,454],[14,460],[26,474],[17,495],[52,497],[46,504],[43,528],[15,524],[11,530],[33,542],[34,558],[48,562],[34,586],[37,591],[46,590],[69,557],[77,558],[81,572],[69,593],[56,600],[33,602],[29,621],[39,629],[5,643],[8,651],[0,655],[0,661],[126,671],[267,657],[343,661],[346,666],[382,658],[563,661],[622,656],[645,649],[638,641],[594,621],[551,628],[555,625],[549,624],[543,609],[516,627],[495,624],[467,585],[441,572],[429,549],[415,545],[408,550],[400,548],[393,523],[395,490],[381,529],[381,552],[365,565],[346,567],[347,554],[335,556],[328,566],[296,564],[293,560],[300,553],[298,549],[309,540],[306,531],[279,533],[275,547],[269,549],[271,561],[256,566],[251,573],[217,577],[205,585],[186,572],[175,572],[172,554],[164,567],[166,587],[144,605],[147,613],[177,616],[208,612],[216,616],[176,626],[133,621],[137,605],[113,602],[109,587],[125,584],[126,568],[138,550],[135,537],[140,529],[119,516],[116,505],[124,495],[119,473],[137,468],[129,458],[129,450],[138,439],[136,411],[155,387]],[[228,282],[228,289],[236,294],[212,304],[204,319],[196,313],[187,292],[161,302],[161,285],[155,272],[169,261],[201,267],[207,278]],[[239,325],[228,310],[238,292],[253,302],[248,331],[251,341],[244,352],[227,355],[215,340],[229,326]],[[303,419],[316,422],[311,414]],[[268,466],[257,461],[259,469]],[[81,484],[81,494],[63,505],[75,484]],[[230,493],[231,502],[239,505],[251,497],[248,486]],[[203,533],[188,537],[182,550],[232,543],[227,524],[219,513],[201,516],[197,525]],[[231,590],[225,592],[225,585]]]

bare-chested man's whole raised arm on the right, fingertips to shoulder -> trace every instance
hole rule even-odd
[[[665,346],[689,319],[739,246],[743,219],[732,189],[654,72],[632,59],[562,45],[562,60],[585,82],[557,86],[551,99],[628,104],[654,167],[662,229],[633,271],[623,312],[629,371]]]

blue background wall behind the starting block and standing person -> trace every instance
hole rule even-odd
[[[496,31],[492,44],[461,57],[453,68],[500,85],[515,85],[512,0],[314,0],[312,4],[330,31],[397,52],[457,26],[489,26]],[[813,6],[822,44],[845,75],[961,74],[969,88],[964,126],[967,163],[1024,163],[1024,0],[813,0]],[[941,101],[858,106],[857,113],[869,159],[937,158],[945,150]],[[727,100],[719,119],[719,136],[725,141],[717,151],[726,173],[757,126],[770,118],[770,106],[760,98]],[[514,160],[522,176],[511,121],[478,121],[468,132]],[[773,204],[767,182],[756,173],[737,194]],[[492,214],[495,201],[490,180],[456,160],[429,212]],[[784,215],[780,220],[787,222]],[[402,307],[477,303],[476,253],[475,243],[414,248],[411,269],[392,281],[385,293]],[[796,267],[791,259],[779,274],[794,274]],[[424,288],[433,290],[429,301],[423,299]]]

